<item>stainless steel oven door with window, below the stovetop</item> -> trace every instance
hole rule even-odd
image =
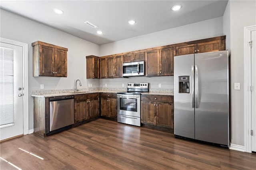
[[[140,95],[117,94],[117,113],[140,117]]]

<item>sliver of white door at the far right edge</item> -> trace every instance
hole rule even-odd
[[[256,31],[251,31],[252,60],[252,151],[256,152]]]

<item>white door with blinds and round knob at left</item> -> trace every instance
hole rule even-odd
[[[22,47],[0,44],[0,140],[23,134]]]

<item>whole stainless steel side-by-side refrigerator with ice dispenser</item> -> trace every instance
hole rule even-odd
[[[229,147],[228,51],[174,57],[174,135]]]

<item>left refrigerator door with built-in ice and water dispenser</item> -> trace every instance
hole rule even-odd
[[[194,131],[194,54],[174,57],[174,135],[195,138]],[[189,78],[189,90],[182,92],[180,76]],[[187,80],[186,80],[187,81]],[[187,84],[184,87],[187,88]],[[180,92],[181,91],[181,92]],[[188,93],[187,93],[188,92]]]

